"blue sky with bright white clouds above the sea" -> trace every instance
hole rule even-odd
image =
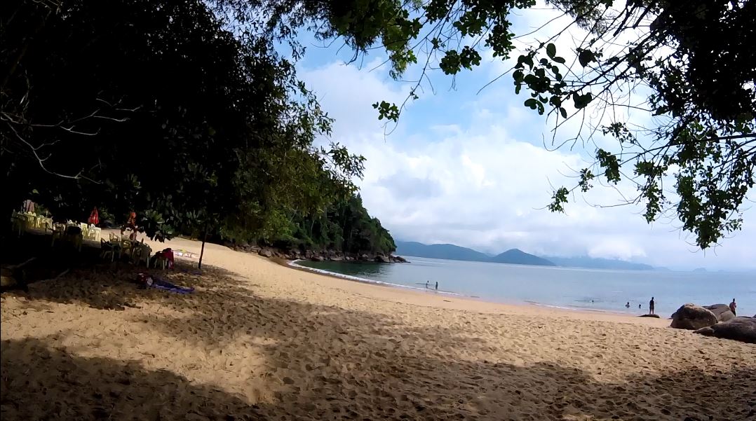
[[[554,11],[540,8],[519,12],[515,32],[531,32],[552,17]],[[345,63],[352,51],[339,51],[338,41],[330,46],[302,41],[307,52],[298,63],[299,78],[335,118],[330,140],[367,158],[364,178],[356,183],[367,210],[395,239],[452,243],[488,253],[516,247],[531,254],[615,258],[670,269],[756,268],[756,211],[750,208],[742,231],[705,251],[679,229],[679,220],[649,224],[642,206],[606,207],[634,192],[626,184],[612,189],[594,183],[590,192],[572,196],[565,214],[545,209],[553,187],[576,183],[575,171],[590,164],[596,145],[612,148],[616,143],[597,138],[596,145],[547,147],[553,121],[522,105],[528,96],[514,94],[510,75],[479,92],[511,60],[502,62],[484,52],[482,65],[458,75],[454,88],[453,79],[437,70],[432,74],[435,93],[426,84],[420,100],[410,103],[386,134],[393,125],[386,128],[371,104],[401,103],[412,84],[389,78],[380,54]],[[558,54],[566,56],[570,45],[561,40],[556,45]],[[410,76],[412,72],[417,69]],[[600,123],[599,115],[588,117],[590,123]],[[556,138],[566,139],[577,130],[577,124],[566,124]]]

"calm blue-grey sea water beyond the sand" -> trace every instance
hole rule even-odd
[[[407,257],[411,263],[296,264],[355,280],[373,281],[497,303],[531,303],[565,309],[640,315],[655,297],[658,315],[669,317],[684,303],[738,303],[738,314],[756,313],[756,275],[745,272],[673,272],[573,269]],[[438,281],[438,292],[435,282]],[[630,308],[625,303],[630,302]],[[638,309],[638,305],[641,309]]]

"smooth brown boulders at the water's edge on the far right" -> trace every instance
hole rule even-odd
[[[705,336],[756,343],[756,315],[736,317],[727,304],[684,304],[672,314],[671,327],[694,330]]]

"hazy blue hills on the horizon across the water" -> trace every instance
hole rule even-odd
[[[510,265],[564,266],[585,269],[652,270],[653,266],[624,260],[594,257],[536,256],[513,248],[494,257],[472,248],[455,244],[423,244],[417,241],[396,241],[396,253],[429,259],[466,260],[470,262],[507,263]]]

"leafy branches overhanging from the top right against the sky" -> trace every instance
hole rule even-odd
[[[564,211],[572,191],[587,191],[601,177],[609,184],[633,183],[638,195],[627,203],[644,203],[649,222],[673,212],[700,247],[742,222],[756,180],[754,0],[547,0],[571,23],[539,28],[539,41],[519,51],[515,38],[528,34],[513,32],[512,17],[535,0],[218,3],[274,38],[293,40],[297,29],[306,28],[319,38],[343,39],[357,54],[381,48],[397,79],[419,64],[422,72],[407,100],[418,97],[427,72],[474,69],[483,49],[502,60],[517,57],[510,73],[516,94],[529,94],[526,107],[552,116],[556,128],[581,119],[572,139],[586,145],[596,144],[594,136],[618,140],[615,149],[596,149],[595,163],[578,174],[572,189],[556,189],[552,211]],[[557,51],[560,38],[575,37],[573,51]],[[631,95],[638,88],[650,92],[645,104]],[[404,109],[374,106],[389,121]],[[651,116],[652,127],[623,120],[630,109]],[[602,121],[593,124],[592,116]]]

